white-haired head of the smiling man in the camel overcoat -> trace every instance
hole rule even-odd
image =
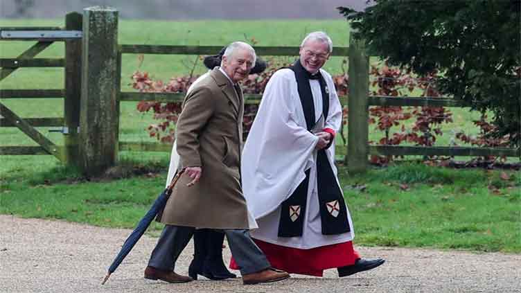
[[[254,66],[254,55],[244,48],[237,48],[229,57],[222,56],[222,70],[233,83],[245,79]]]

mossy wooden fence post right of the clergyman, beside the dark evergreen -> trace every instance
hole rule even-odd
[[[369,56],[363,39],[349,36],[349,98],[346,163],[348,172],[365,172],[369,140]]]

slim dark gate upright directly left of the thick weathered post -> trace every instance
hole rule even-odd
[[[82,30],[82,15],[71,12],[65,16],[67,30]],[[65,41],[65,98],[64,124],[68,134],[64,136],[64,159],[69,166],[79,166],[78,126],[80,125],[81,96],[81,39]]]

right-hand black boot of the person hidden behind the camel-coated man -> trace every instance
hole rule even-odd
[[[206,251],[208,252],[202,269],[202,275],[211,280],[224,280],[236,278],[222,261],[222,243],[224,233],[220,231],[208,231]]]

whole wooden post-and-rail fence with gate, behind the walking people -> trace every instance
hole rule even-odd
[[[30,30],[51,28],[30,28]],[[0,30],[9,30],[0,28]],[[24,30],[10,28],[12,31]],[[19,127],[37,141],[41,147],[1,147],[0,154],[54,154],[63,161],[79,166],[87,175],[96,175],[116,162],[118,150],[170,152],[171,146],[162,143],[134,143],[118,140],[119,103],[125,101],[154,100],[181,102],[184,94],[139,93],[121,91],[121,65],[123,54],[213,55],[221,46],[153,46],[140,44],[118,45],[118,12],[112,8],[85,8],[83,15],[71,13],[66,17],[65,28],[52,30],[82,30],[78,39],[55,38],[64,41],[65,58],[58,60],[31,59],[50,44],[49,39],[39,42],[15,59],[0,59],[0,80],[20,66],[64,66],[65,89],[3,90],[2,98],[64,97],[64,118],[23,119],[11,115],[1,105],[0,125]],[[38,38],[35,38],[38,40]],[[256,46],[258,55],[294,56],[297,46]],[[407,147],[369,145],[369,106],[443,106],[466,107],[448,98],[396,98],[368,96],[369,56],[362,40],[350,39],[348,47],[335,47],[334,56],[347,56],[349,60],[349,93],[341,96],[342,105],[348,105],[348,145],[343,159],[350,172],[367,170],[368,155],[450,155],[450,156],[508,156],[521,157],[520,148],[455,148]],[[258,104],[260,95],[245,95],[245,103]],[[7,113],[7,115],[6,115]],[[56,146],[30,131],[33,126],[65,125],[68,130],[64,147]],[[79,131],[78,131],[79,127]]]

